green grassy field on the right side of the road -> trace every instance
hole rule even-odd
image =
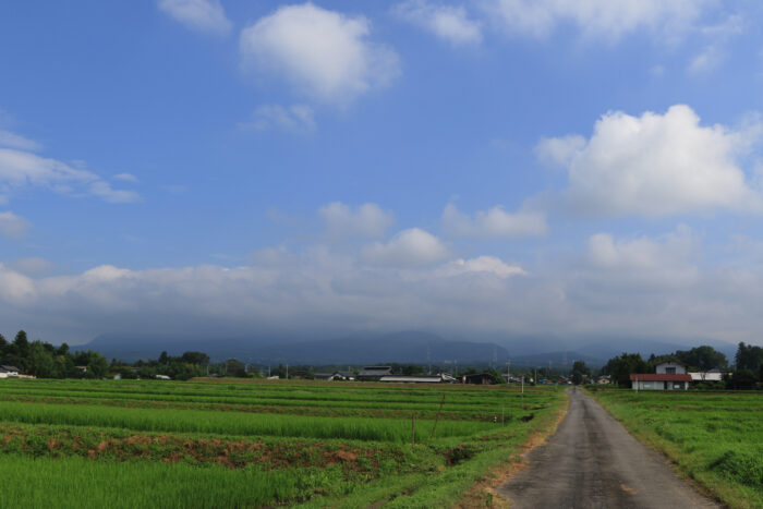
[[[763,508],[763,393],[600,389],[593,396],[717,499]]]

